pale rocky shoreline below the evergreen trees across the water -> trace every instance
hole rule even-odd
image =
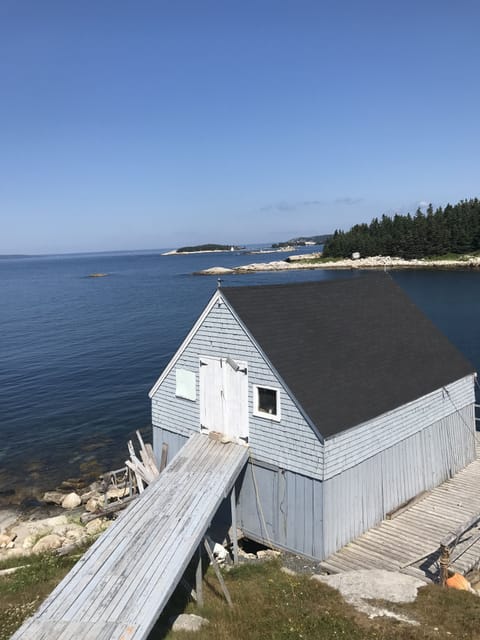
[[[210,267],[197,271],[195,275],[219,276],[230,274],[256,273],[259,271],[290,271],[298,269],[480,269],[480,258],[463,256],[457,260],[413,259],[404,260],[391,256],[372,256],[356,260],[330,260],[320,262],[318,255],[290,256],[286,260],[274,262],[256,262],[228,269],[226,267]]]

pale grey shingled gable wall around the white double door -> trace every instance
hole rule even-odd
[[[279,379],[255,347],[229,308],[215,305],[204,319],[175,367],[166,376],[152,398],[152,423],[155,428],[188,436],[199,430],[200,389],[199,356],[231,356],[248,364],[249,444],[252,455],[289,471],[321,479],[323,445],[308,425]],[[175,368],[196,374],[197,400],[175,396]],[[281,421],[253,415],[252,385],[280,388]],[[158,455],[158,454],[157,454]]]

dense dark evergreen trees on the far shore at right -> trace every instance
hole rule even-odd
[[[336,230],[323,248],[326,258],[383,255],[405,258],[465,254],[480,250],[480,200],[462,200],[425,213],[383,215],[350,231]]]

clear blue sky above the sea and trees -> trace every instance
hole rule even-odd
[[[252,243],[480,190],[476,0],[0,0],[0,253]]]

